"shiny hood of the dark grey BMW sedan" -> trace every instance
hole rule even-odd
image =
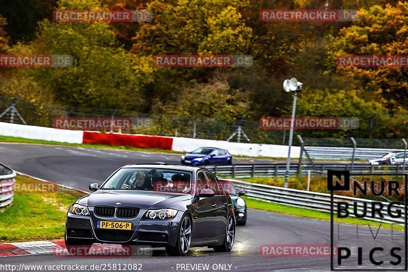
[[[120,202],[120,207],[140,209],[166,208],[176,202],[191,199],[190,194],[138,191],[138,190],[97,190],[78,201],[84,206],[113,206]]]

